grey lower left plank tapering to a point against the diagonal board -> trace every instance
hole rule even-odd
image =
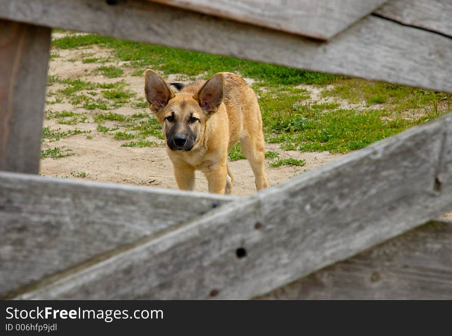
[[[232,199],[0,172],[0,296]]]

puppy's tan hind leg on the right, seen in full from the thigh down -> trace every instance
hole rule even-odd
[[[242,136],[240,139],[243,154],[248,159],[254,173],[256,189],[260,190],[268,187],[267,174],[265,172],[265,141],[263,134],[258,133],[252,136]]]

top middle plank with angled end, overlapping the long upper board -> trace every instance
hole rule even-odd
[[[152,0],[204,14],[329,39],[387,0]]]

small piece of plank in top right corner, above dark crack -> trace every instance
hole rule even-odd
[[[450,0],[393,0],[377,9],[374,14],[452,37]]]

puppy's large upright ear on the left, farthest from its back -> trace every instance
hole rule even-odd
[[[149,102],[149,108],[157,113],[174,97],[168,84],[154,70],[147,69],[144,73],[144,93]]]

